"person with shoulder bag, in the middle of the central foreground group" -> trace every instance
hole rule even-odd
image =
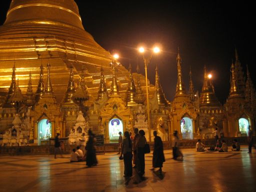
[[[144,153],[144,146],[146,144],[145,132],[144,130],[138,131],[139,138],[136,142],[136,169],[140,176],[145,173],[145,153]]]

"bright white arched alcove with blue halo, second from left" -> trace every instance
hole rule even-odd
[[[112,118],[108,123],[109,142],[118,142],[119,131],[123,133],[122,121],[118,118]]]

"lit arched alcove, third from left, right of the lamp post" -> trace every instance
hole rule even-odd
[[[191,118],[183,117],[180,120],[180,132],[182,139],[193,139],[193,125]]]

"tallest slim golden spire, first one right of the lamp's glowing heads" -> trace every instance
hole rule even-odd
[[[182,70],[181,70],[181,57],[179,55],[179,48],[177,54],[177,85],[176,85],[176,94],[175,96],[186,94],[185,86],[182,79]]]

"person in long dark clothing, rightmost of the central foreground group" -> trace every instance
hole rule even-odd
[[[157,136],[157,131],[153,131],[154,135],[154,150],[153,150],[153,168],[150,170],[154,170],[154,168],[159,167],[158,171],[162,172],[162,163],[165,161],[163,154],[163,146],[161,137]]]

